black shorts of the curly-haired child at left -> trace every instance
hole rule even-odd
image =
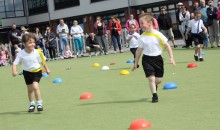
[[[26,85],[30,85],[33,84],[33,82],[40,82],[42,71],[40,70],[38,72],[29,72],[23,70],[23,75]]]

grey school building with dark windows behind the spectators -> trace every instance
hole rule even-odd
[[[189,9],[199,0],[0,0],[0,40],[7,42],[6,34],[12,23],[25,26],[33,31],[40,27],[44,33],[47,26],[56,30],[59,19],[63,18],[69,28],[77,20],[85,33],[93,32],[97,16],[108,25],[112,16],[120,19],[125,27],[129,14],[135,18],[141,10],[153,12],[157,17],[160,8],[165,6],[171,15],[175,37],[180,37],[176,23],[176,4],[182,2]],[[217,3],[218,0],[214,0]]]

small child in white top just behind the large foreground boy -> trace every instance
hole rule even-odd
[[[135,53],[138,48],[138,38],[140,37],[140,35],[136,32],[135,24],[131,24],[129,26],[129,29],[130,29],[130,33],[128,33],[126,37],[126,41],[127,43],[129,43],[130,51],[134,55],[134,59],[135,59]],[[138,67],[139,65],[137,66],[137,68]]]

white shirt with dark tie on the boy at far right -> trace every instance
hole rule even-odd
[[[201,19],[200,20],[192,19],[189,21],[188,27],[191,29],[191,33],[200,33],[202,32],[202,27],[205,27],[205,26]]]

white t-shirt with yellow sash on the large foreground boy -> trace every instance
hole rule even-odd
[[[138,47],[143,48],[143,54],[147,56],[158,56],[162,54],[164,44],[168,39],[159,31],[152,33],[142,33],[138,40]]]

